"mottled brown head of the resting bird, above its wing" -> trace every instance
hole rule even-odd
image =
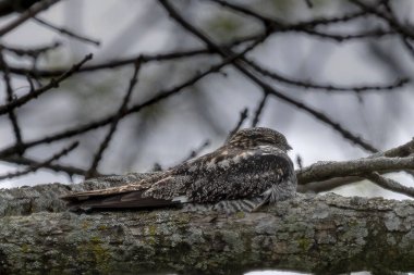
[[[282,134],[265,127],[241,129],[231,136],[226,145],[242,149],[253,149],[258,146],[273,146],[284,152],[292,149]]]

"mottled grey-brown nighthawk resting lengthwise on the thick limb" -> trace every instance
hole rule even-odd
[[[209,205],[252,211],[292,198],[296,190],[292,149],[272,129],[241,129],[211,153],[141,182],[63,197],[72,209],[148,209]]]

